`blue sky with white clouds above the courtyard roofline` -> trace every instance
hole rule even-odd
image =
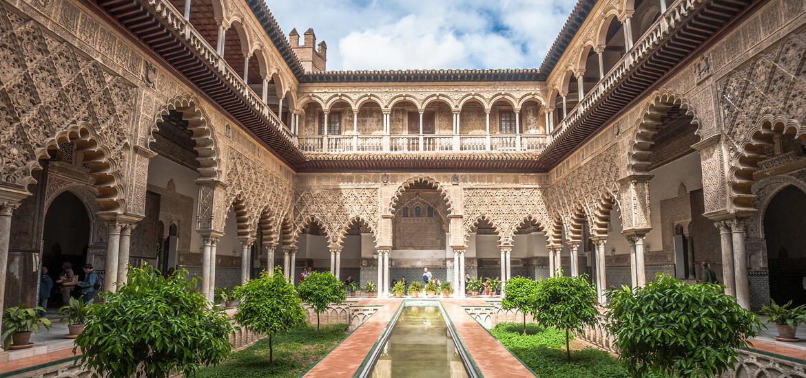
[[[575,0],[266,0],[327,70],[538,68]]]

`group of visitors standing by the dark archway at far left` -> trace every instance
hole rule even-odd
[[[82,270],[84,271],[84,281],[79,281],[77,274],[73,273],[73,264],[64,261],[61,265],[59,279],[54,283],[48,275],[48,267],[43,265],[42,273],[39,276],[39,306],[47,310],[54,284],[59,286],[63,306],[69,305],[70,298],[76,291],[84,302],[97,298],[98,291],[103,289],[101,275],[93,269],[92,264],[85,264]]]

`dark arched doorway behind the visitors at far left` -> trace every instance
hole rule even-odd
[[[42,266],[48,268],[48,275],[55,282],[61,273],[61,265],[69,262],[73,273],[81,276],[81,266],[87,261],[87,249],[92,232],[92,224],[85,203],[71,191],[56,196],[45,212],[42,235]],[[59,286],[54,285],[49,307],[58,307]]]

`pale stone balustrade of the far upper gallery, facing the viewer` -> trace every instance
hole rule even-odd
[[[316,135],[298,137],[307,153],[539,152],[546,134],[492,135]]]

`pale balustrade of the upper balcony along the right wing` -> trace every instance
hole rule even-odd
[[[641,60],[648,52],[658,47],[665,36],[679,27],[683,16],[705,1],[706,0],[676,0],[672,3],[666,12],[650,26],[649,30],[633,43],[633,47],[631,47],[624,56],[621,56],[621,60],[605,74],[605,77],[599,80],[599,83],[582,98],[582,101],[567,113],[563,121],[560,121],[559,125],[551,131],[548,142],[553,142],[559,135],[563,134],[566,129],[574,125],[588,109],[593,109],[596,103],[605,98],[605,93],[610,92],[616,84],[621,82],[638,60]]]

